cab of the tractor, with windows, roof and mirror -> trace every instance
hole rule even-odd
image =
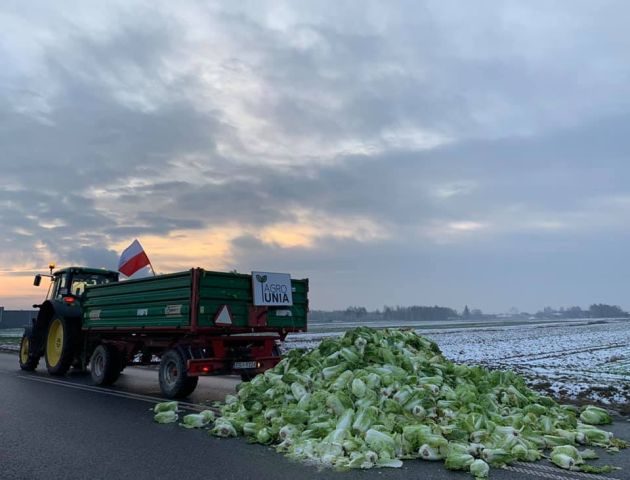
[[[62,300],[65,298],[78,298],[85,292],[85,288],[91,285],[103,285],[118,281],[118,272],[105,270],[102,268],[85,268],[85,267],[68,267],[56,272],[52,272],[54,266],[51,267],[51,285],[48,290],[47,300]],[[35,275],[33,284],[39,286],[42,281],[42,275]]]

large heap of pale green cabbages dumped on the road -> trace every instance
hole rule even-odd
[[[512,372],[452,363],[413,331],[360,327],[291,351],[241,384],[210,432],[339,469],[423,459],[486,478],[490,467],[543,456],[561,468],[609,471],[586,465],[596,454],[578,447],[625,446],[593,426],[610,422],[605,410],[559,405]]]

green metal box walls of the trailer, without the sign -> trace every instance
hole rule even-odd
[[[255,307],[247,274],[196,269],[99,285],[87,288],[82,299],[83,328],[304,331],[308,280],[291,280],[291,288],[292,306]],[[227,322],[219,318],[225,308]]]

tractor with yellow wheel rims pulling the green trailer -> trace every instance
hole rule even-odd
[[[32,371],[40,358],[46,360],[51,375],[65,375],[70,367],[85,369],[86,359],[81,352],[81,297],[85,288],[118,281],[118,272],[98,268],[69,267],[57,270],[49,266],[50,274],[38,274],[33,284],[39,286],[42,277],[50,277],[46,300],[38,308],[37,318],[25,328],[20,344],[20,368]]]

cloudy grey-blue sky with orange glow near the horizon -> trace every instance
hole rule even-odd
[[[4,1],[0,305],[138,238],[159,272],[308,277],[315,309],[630,308],[628,15]]]

